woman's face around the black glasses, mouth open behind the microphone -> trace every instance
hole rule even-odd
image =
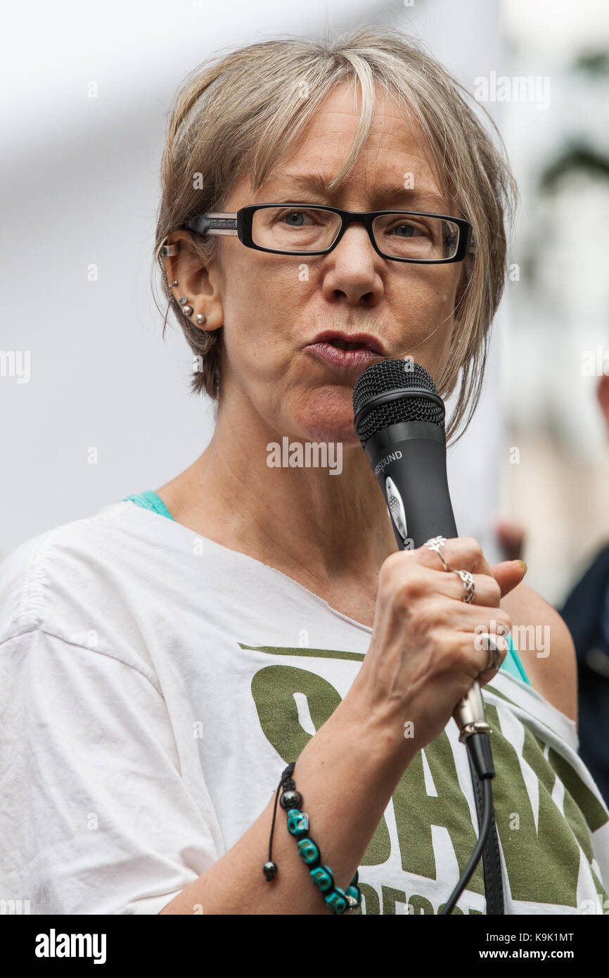
[[[422,136],[380,92],[368,141],[342,188],[329,199],[297,183],[297,178],[327,178],[338,171],[358,119],[356,96],[347,85],[337,86],[297,151],[283,159],[258,192],[251,193],[248,181],[239,182],[224,209],[302,201],[346,210],[396,207],[458,216],[442,199],[422,152]],[[405,183],[413,187],[410,197],[400,196]],[[384,185],[395,188],[395,194],[381,195]],[[381,258],[363,225],[347,228],[326,255],[270,254],[226,236],[218,242],[217,259],[207,269],[214,318],[224,323],[220,410],[229,417],[233,410],[239,417],[243,410],[253,411],[277,436],[274,440],[288,435],[359,445],[352,393],[366,365],[336,367],[308,350],[326,330],[370,333],[385,356],[412,355],[439,378],[455,327],[460,263],[417,266]]]

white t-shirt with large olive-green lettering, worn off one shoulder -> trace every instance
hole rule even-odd
[[[22,544],[0,566],[0,896],[31,913],[159,912],[257,819],[370,634],[132,502]],[[484,698],[505,912],[609,911],[609,813],[575,724],[504,670]],[[376,829],[363,911],[438,912],[477,831],[451,721]],[[458,907],[485,912],[481,866]]]

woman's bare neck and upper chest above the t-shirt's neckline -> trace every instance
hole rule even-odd
[[[298,441],[279,438],[269,449],[268,432],[254,438],[251,427],[229,429],[219,420],[203,454],[158,495],[177,522],[292,577],[300,568],[320,587],[340,580],[368,586],[397,550],[368,459],[358,444],[339,443],[333,468],[315,467],[324,456],[313,449],[307,467],[305,443],[289,448]],[[292,467],[290,457],[305,464]]]

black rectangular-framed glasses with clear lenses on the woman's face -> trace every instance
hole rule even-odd
[[[462,261],[474,248],[462,218],[419,210],[341,210],[326,204],[253,203],[237,213],[196,214],[183,225],[201,235],[237,235],[246,247],[276,254],[327,254],[351,224],[363,224],[374,250],[391,261]]]

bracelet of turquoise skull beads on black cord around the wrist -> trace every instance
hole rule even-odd
[[[269,839],[269,861],[264,864],[262,871],[267,882],[271,882],[277,875],[277,865],[273,862],[272,856],[273,832],[275,831],[275,816],[277,815],[277,799],[280,790],[283,788],[280,805],[287,813],[287,830],[298,843],[298,853],[302,861],[309,867],[311,879],[321,891],[327,906],[333,913],[357,913],[362,905],[362,894],[357,885],[358,870],[356,869],[355,876],[349,883],[346,892],[341,890],[339,886],[334,886],[331,869],[322,865],[320,847],[309,836],[309,816],[306,812],[300,811],[302,795],[296,791],[296,785],[291,777],[293,770],[294,763],[288,764],[277,788],[271,838]]]

